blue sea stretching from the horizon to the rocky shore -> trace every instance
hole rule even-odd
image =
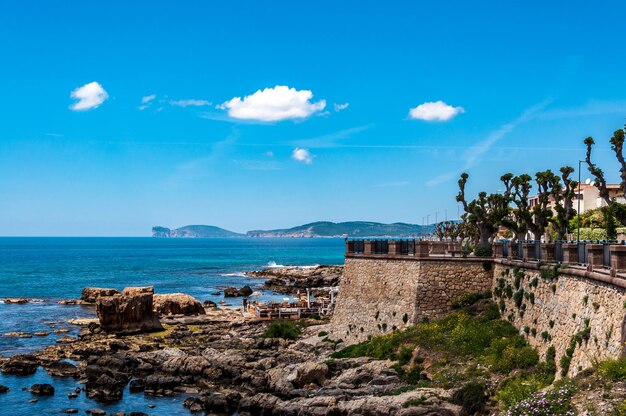
[[[245,275],[265,267],[343,264],[343,239],[333,238],[0,238],[0,355],[28,353],[52,345],[63,336],[76,336],[79,328],[68,324],[74,318],[95,316],[93,307],[59,305],[62,299],[79,298],[83,287],[154,286],[155,293],[183,292],[201,302],[225,301],[238,307],[238,299],[217,295],[225,287],[249,285],[261,292],[261,300],[283,300],[285,295],[264,290],[263,279]],[[26,304],[8,304],[2,299],[26,298]],[[16,338],[11,332],[47,336]],[[56,331],[56,332],[55,332]],[[67,331],[67,332],[66,332]],[[56,394],[32,397],[22,390],[34,383],[50,383]],[[82,387],[77,380],[55,379],[39,369],[33,376],[0,373],[0,385],[10,388],[0,394],[0,415],[58,415],[64,409],[100,408],[107,413],[143,412],[149,415],[188,415],[184,395],[145,396],[125,392],[122,401],[103,405],[84,393],[68,399],[67,393]],[[154,406],[154,408],[149,407]]]

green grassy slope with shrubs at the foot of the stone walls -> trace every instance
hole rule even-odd
[[[332,357],[396,361],[393,368],[408,384],[458,389],[464,392],[456,395],[460,401],[470,392],[474,392],[473,397],[480,396],[476,392],[481,385],[484,403],[492,401],[503,409],[511,408],[552,384],[557,370],[555,357],[548,354],[540,362],[537,351],[519,331],[500,319],[498,306],[482,297],[472,297],[476,303],[443,319],[372,337]],[[459,304],[467,305],[467,299]],[[468,383],[475,385],[468,387]],[[477,404],[470,400],[467,406],[475,409]]]

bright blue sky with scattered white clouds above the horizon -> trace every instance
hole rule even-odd
[[[0,235],[432,223],[587,136],[619,179],[624,2],[0,8]]]

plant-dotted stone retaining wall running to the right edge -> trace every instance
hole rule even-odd
[[[550,346],[555,347],[558,374],[561,357],[573,344],[569,376],[622,353],[626,296],[620,287],[575,276],[567,269],[556,277],[551,270],[543,272],[542,277],[536,266],[496,264],[493,290],[503,319],[520,329],[542,359]]]

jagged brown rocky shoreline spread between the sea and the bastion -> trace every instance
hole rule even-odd
[[[284,273],[274,278],[290,281]],[[321,273],[306,271],[296,281],[326,284],[331,280]],[[141,305],[148,293],[151,292],[146,288],[127,288],[112,296],[95,296],[99,310],[112,304],[117,308],[117,318],[101,317],[99,325],[103,330],[94,330],[91,322],[83,326],[76,339],[34,354],[0,358],[0,369],[5,375],[24,376],[41,366],[56,377],[75,378],[84,387],[74,394],[84,394],[101,403],[123,400],[127,386],[131,394],[183,394],[187,396],[184,406],[190,412],[206,414],[459,413],[457,406],[446,401],[449,393],[445,390],[405,391],[408,386],[391,368],[391,361],[330,359],[342,342],[326,336],[327,319],[301,320],[297,324],[301,334],[296,339],[283,339],[267,335],[272,323],[244,316],[241,309],[202,307],[200,311],[197,301],[177,295],[170,298],[167,309],[154,312],[161,329],[151,328],[152,332],[147,333],[142,332],[145,328],[136,333],[125,331],[135,318],[153,319],[134,316],[126,310],[126,305]],[[181,304],[194,306],[185,310]],[[185,312],[172,313],[181,310]],[[127,321],[117,322],[120,317]],[[108,326],[107,320],[120,325],[120,331]],[[50,392],[47,387],[33,388]],[[68,397],[68,406],[70,400]],[[421,404],[404,408],[407,401]],[[102,412],[92,410],[92,414]],[[158,408],[155,412],[158,414]]]

